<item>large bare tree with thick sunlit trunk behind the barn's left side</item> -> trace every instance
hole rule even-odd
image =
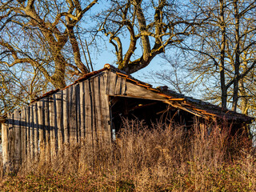
[[[66,86],[66,72],[85,74],[76,27],[98,0],[1,1],[0,64],[30,64],[55,88]]]

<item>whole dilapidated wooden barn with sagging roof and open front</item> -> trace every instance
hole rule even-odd
[[[53,90],[2,121],[3,166],[18,169],[22,162],[56,157],[70,143],[111,143],[122,118],[147,125],[166,121],[189,129],[195,119],[230,123],[240,130],[252,122],[244,114],[186,97],[165,86],[152,88],[106,64],[102,70],[79,78],[63,90]]]

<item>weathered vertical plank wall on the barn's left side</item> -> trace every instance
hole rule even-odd
[[[51,161],[72,144],[85,143],[91,151],[110,144],[108,95],[125,92],[126,79],[105,71],[8,114],[2,124],[6,170],[18,170],[24,162]]]

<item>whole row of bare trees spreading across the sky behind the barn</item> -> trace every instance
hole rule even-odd
[[[179,51],[185,57],[168,60],[178,66],[175,80],[162,77],[179,92],[209,82],[202,93],[210,100],[247,114],[254,107],[255,7],[253,0],[0,0],[1,111],[92,71],[86,57],[103,41],[127,74]],[[179,86],[181,68],[190,74],[187,86]]]

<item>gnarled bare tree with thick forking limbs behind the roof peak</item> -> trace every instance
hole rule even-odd
[[[114,46],[120,70],[131,74],[148,66],[155,56],[182,42],[194,32],[194,26],[208,18],[197,19],[198,14],[189,12],[182,2],[111,0],[110,9],[98,14],[99,31]],[[138,47],[141,50],[136,50]]]

